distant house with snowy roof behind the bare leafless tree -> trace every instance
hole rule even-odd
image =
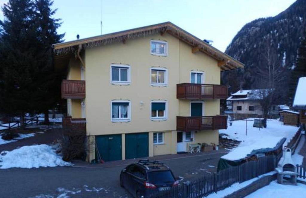
[[[227,98],[227,101],[232,102],[232,113],[235,119],[261,117],[263,110],[260,100],[262,100],[260,90],[239,90]],[[269,115],[273,117],[278,115],[277,105],[272,105]]]

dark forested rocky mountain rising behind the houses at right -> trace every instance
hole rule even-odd
[[[306,0],[297,0],[274,17],[259,18],[244,25],[225,52],[244,63],[245,69],[223,72],[222,82],[230,84],[233,92],[240,86],[256,88],[256,70],[266,64],[267,49],[275,51],[278,64],[288,69],[288,74],[284,75],[290,78],[305,31]]]

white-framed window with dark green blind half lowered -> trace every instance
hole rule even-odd
[[[167,109],[167,101],[151,101],[151,120],[166,120]]]

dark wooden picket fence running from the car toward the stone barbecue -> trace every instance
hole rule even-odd
[[[259,175],[274,171],[277,166],[276,156],[264,156],[256,161],[248,161],[239,166],[230,167],[211,175],[182,185],[172,187],[150,195],[150,198],[202,198],[223,190],[234,183],[241,183]]]

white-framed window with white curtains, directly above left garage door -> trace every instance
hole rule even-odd
[[[126,100],[111,101],[111,121],[127,122],[131,120],[131,102]]]

